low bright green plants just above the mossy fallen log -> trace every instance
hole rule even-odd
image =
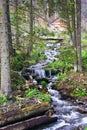
[[[43,93],[40,92],[38,89],[36,88],[29,88],[26,92],[25,92],[26,97],[31,98],[33,96],[37,97],[38,99],[44,101],[44,102],[50,102],[51,101],[51,97],[48,93]]]

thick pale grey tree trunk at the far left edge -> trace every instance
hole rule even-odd
[[[0,0],[1,94],[4,94],[5,96],[10,96],[11,78],[6,2],[7,0]]]

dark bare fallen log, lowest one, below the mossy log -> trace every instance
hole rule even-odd
[[[47,115],[35,117],[29,120],[21,121],[12,125],[8,125],[0,128],[0,130],[31,130],[32,128],[42,125],[48,124],[57,121],[57,117],[49,117]]]

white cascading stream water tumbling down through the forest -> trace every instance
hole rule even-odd
[[[56,123],[40,127],[37,130],[74,130],[74,128],[79,125],[81,125],[81,127],[87,126],[87,114],[77,112],[79,106],[75,106],[68,101],[62,100],[60,93],[51,88],[52,83],[56,82],[57,77],[52,75],[51,71],[46,72],[44,68],[48,63],[56,60],[56,55],[59,54],[59,52],[57,53],[57,50],[60,47],[60,43],[47,43],[46,45],[47,50],[45,50],[44,53],[47,56],[47,59],[36,65],[30,66],[28,71],[32,70],[32,74],[35,74],[36,78],[46,78],[47,75],[50,78],[48,92],[51,95],[52,105],[54,107],[55,114],[53,116],[57,116],[58,120]]]

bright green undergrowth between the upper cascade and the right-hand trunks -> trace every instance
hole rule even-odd
[[[60,69],[62,72],[67,72],[73,67],[74,54],[72,48],[62,48],[60,51],[58,61],[49,63],[48,67],[53,70]]]

